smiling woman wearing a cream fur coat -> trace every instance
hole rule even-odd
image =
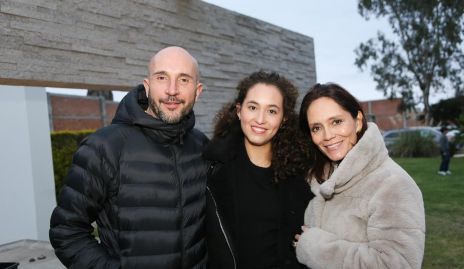
[[[420,268],[425,217],[414,180],[389,156],[377,125],[336,84],[304,97],[300,125],[316,152],[315,198],[295,236],[298,260],[320,268]]]

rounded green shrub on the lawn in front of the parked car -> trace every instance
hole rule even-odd
[[[438,145],[432,137],[420,132],[404,132],[391,145],[390,155],[394,157],[431,157],[439,155]]]

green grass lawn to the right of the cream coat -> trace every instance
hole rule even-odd
[[[449,176],[440,158],[395,158],[422,190],[426,215],[422,268],[464,269],[464,158],[452,158]]]

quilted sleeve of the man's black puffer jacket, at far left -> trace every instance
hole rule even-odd
[[[117,258],[91,235],[107,194],[107,179],[114,173],[103,141],[91,135],[74,154],[58,205],[50,220],[50,242],[56,256],[68,268],[120,268]]]

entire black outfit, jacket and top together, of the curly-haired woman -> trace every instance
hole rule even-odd
[[[238,127],[239,128],[239,127]],[[292,246],[313,197],[304,175],[274,183],[272,168],[253,165],[243,134],[213,140],[206,193],[206,241],[212,269],[306,268]]]

